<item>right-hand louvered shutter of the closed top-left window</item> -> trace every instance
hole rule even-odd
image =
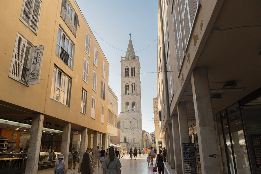
[[[31,23],[30,23],[30,28],[33,31],[35,31],[35,33],[37,33],[39,17],[40,17],[40,10],[41,10],[41,1],[35,0],[34,7],[32,10]]]

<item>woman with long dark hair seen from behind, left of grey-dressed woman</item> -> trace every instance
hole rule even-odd
[[[94,172],[94,164],[90,162],[90,154],[88,152],[84,152],[82,157],[82,161],[79,164],[78,173],[82,174],[90,174]]]

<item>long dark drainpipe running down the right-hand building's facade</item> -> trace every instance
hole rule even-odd
[[[166,105],[167,105],[167,116],[168,116],[168,119],[172,120],[172,118],[170,117],[170,111],[169,111],[169,97],[168,97],[168,82],[167,82],[167,64],[166,64],[166,54],[165,54],[165,38],[164,38],[164,33],[163,33],[163,17],[162,17],[162,2],[161,0],[159,0],[159,5],[160,5],[160,27],[161,27],[161,36],[162,36],[162,52],[163,52],[163,64],[164,64],[164,83],[165,83],[165,94],[166,94],[166,97],[164,97],[166,99]],[[167,82],[167,83],[166,83]]]

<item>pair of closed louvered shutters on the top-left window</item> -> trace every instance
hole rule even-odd
[[[42,1],[24,0],[20,20],[37,34]]]

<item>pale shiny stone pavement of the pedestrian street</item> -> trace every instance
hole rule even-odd
[[[139,156],[139,155],[138,155]],[[130,157],[122,157],[120,158],[120,162],[122,164],[121,172],[122,174],[155,174],[152,169],[152,165],[148,165],[147,163],[147,155],[141,155],[141,157],[137,157],[137,160],[130,160]],[[171,169],[168,163],[164,162],[164,174],[175,174],[175,169]],[[100,164],[101,165],[101,164]],[[154,161],[155,165],[155,161]],[[78,166],[79,163],[76,163],[76,170],[68,169],[69,174],[78,174]],[[39,170],[38,174],[50,174],[53,173],[54,168],[48,168],[44,170]],[[101,167],[95,167],[93,174],[102,174],[103,169]],[[158,173],[158,172],[157,172]]]

